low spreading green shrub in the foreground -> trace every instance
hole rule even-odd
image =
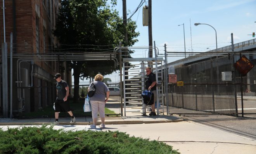
[[[118,131],[20,127],[0,130],[0,137],[1,154],[179,154],[165,143]]]

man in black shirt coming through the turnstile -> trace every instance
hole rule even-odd
[[[151,105],[151,113],[150,116],[156,116],[155,112],[155,102],[156,102],[156,74],[152,73],[151,68],[146,68],[147,79],[146,79],[146,89],[151,90],[154,94],[154,104]]]

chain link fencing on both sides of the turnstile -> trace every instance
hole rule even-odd
[[[230,53],[202,53],[189,55],[187,58],[183,55],[184,53],[167,54],[168,67],[173,66],[177,80],[184,82],[184,86],[168,84],[170,114],[256,115],[256,68],[252,68],[245,76],[241,77],[233,67],[240,58],[238,53],[234,55],[234,60]],[[245,55],[251,63],[256,64],[254,53],[246,52],[241,53],[241,55]],[[15,114],[36,112],[47,106],[52,106],[56,98],[55,80],[53,80],[52,74],[55,74],[57,70],[54,68],[64,67],[60,63],[64,60],[84,60],[86,58],[93,60],[91,56],[83,56],[14,56],[17,72],[13,72],[15,85],[12,90],[12,97],[18,99],[14,100],[12,112]],[[111,55],[109,58],[111,59]],[[104,56],[105,59],[106,56]],[[104,62],[104,60],[99,62]],[[115,64],[117,65],[117,62]],[[44,66],[52,67],[52,70],[45,70],[42,68]],[[106,74],[105,72],[112,72],[112,67],[91,67],[90,70]],[[49,72],[52,73],[49,74]],[[68,71],[68,69],[63,72],[66,72],[63,79],[67,81],[70,87],[70,100],[72,101],[72,97],[74,97],[74,87],[79,87],[78,96],[80,101],[83,100],[93,78],[80,79],[79,84],[74,84],[73,72]],[[235,80],[222,80],[222,72],[234,72]],[[119,74],[120,72],[114,72],[111,75],[104,75],[104,82],[112,90],[109,103],[106,104],[106,115],[121,115],[122,113],[123,108],[118,92],[118,89],[120,90]],[[164,104],[167,102],[164,101]],[[2,100],[0,106],[2,112]],[[83,106],[81,106],[81,110],[82,108]]]

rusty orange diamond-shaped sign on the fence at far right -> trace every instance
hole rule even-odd
[[[246,75],[254,67],[254,65],[250,62],[248,58],[246,58],[245,55],[243,55],[239,60],[237,60],[234,66],[242,75]]]

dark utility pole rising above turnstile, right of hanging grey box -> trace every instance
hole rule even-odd
[[[152,46],[152,0],[149,0],[149,58],[153,57]]]

